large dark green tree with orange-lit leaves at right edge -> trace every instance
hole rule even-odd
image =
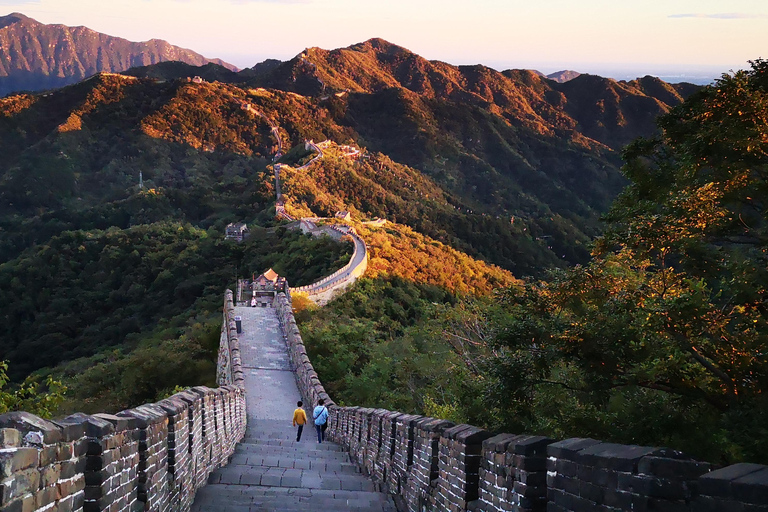
[[[507,295],[494,400],[516,426],[765,462],[768,63],[659,126],[594,260]]]

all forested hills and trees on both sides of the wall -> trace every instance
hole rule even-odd
[[[275,220],[282,147],[286,208],[350,211],[370,250],[347,294],[297,301],[340,403],[768,460],[765,62],[675,107],[690,88],[401,50],[312,50],[316,69],[248,84],[98,75],[0,99],[1,407],[114,411],[212,384],[238,276],[343,266],[348,244]],[[318,78],[328,90],[299,90]],[[361,156],[331,144],[299,170],[304,139]],[[234,221],[242,244],[223,239]]]

